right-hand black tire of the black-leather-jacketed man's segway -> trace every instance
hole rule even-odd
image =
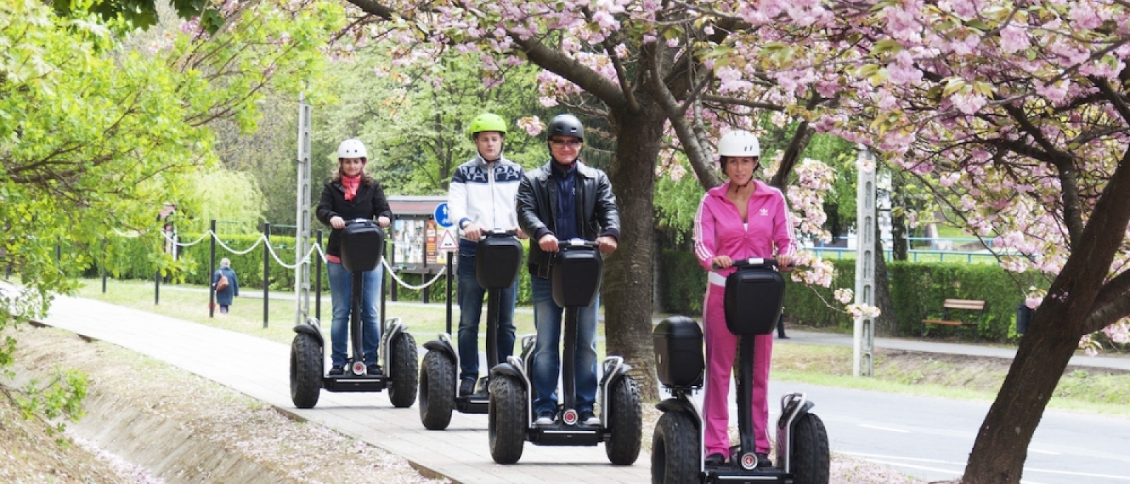
[[[605,442],[605,454],[612,465],[631,466],[640,457],[640,443],[643,440],[640,387],[635,379],[625,375],[612,384],[610,393],[609,408],[601,410],[608,416],[610,432]]]

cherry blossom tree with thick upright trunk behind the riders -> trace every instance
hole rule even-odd
[[[739,65],[756,52],[733,34],[750,25],[690,3],[664,0],[450,1],[348,0],[365,15],[353,37],[390,37],[400,62],[438,52],[477,53],[487,87],[510,65],[531,62],[542,105],[607,120],[615,140],[609,177],[620,209],[620,249],[603,284],[608,351],[624,355],[654,397],[651,294],[654,273],[655,165],[673,146],[704,187],[721,179],[712,155],[722,131],[756,129],[762,113],[785,125],[790,105],[816,106],[817,93],[781,89]],[[347,35],[347,37],[349,37]],[[812,126],[800,121],[773,184],[783,187]],[[601,135],[597,130],[586,133]]]

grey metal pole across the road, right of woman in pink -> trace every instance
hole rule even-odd
[[[859,176],[855,187],[855,303],[875,306],[875,156],[859,144]],[[864,169],[869,167],[868,169]],[[859,316],[852,344],[852,375],[875,373],[875,318]]]

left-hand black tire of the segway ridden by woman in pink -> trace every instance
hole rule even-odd
[[[651,439],[651,484],[697,484],[698,426],[683,412],[666,412]]]

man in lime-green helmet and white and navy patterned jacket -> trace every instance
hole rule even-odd
[[[459,240],[459,394],[475,393],[479,373],[479,316],[486,290],[475,276],[475,249],[480,230],[518,229],[514,196],[525,175],[522,167],[502,156],[506,122],[493,113],[471,120],[468,130],[476,153],[455,168],[447,185],[447,214],[462,230]],[[525,235],[519,230],[519,237]],[[514,301],[518,281],[502,290],[498,311],[498,361],[514,353]]]

